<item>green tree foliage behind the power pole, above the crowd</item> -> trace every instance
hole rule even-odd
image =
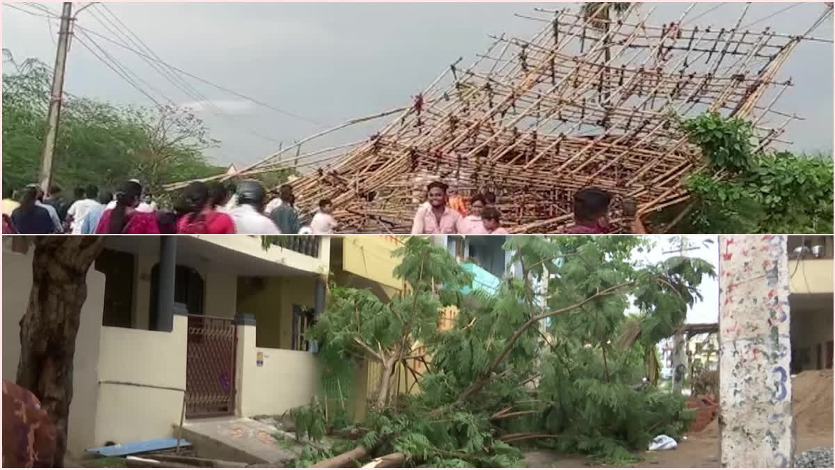
[[[37,59],[4,51],[3,186],[38,181],[52,72]],[[138,108],[63,96],[53,181],[65,188],[114,187],[139,178],[151,191],[166,182],[216,175],[203,152],[215,146],[203,122],[175,106]]]

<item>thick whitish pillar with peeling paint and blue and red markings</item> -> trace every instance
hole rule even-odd
[[[719,237],[722,467],[792,467],[785,236]]]

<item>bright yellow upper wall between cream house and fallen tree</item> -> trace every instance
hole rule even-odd
[[[347,236],[342,242],[342,269],[393,289],[402,289],[402,281],[392,272],[400,258],[392,256],[399,247],[392,236]]]

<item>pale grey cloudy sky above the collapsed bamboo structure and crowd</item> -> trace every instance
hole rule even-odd
[[[568,4],[573,5],[573,4]],[[530,13],[527,3],[109,3],[78,15],[78,26],[104,36],[78,36],[69,52],[65,89],[74,95],[118,103],[150,105],[99,56],[109,54],[130,72],[148,95],[191,105],[221,140],[212,156],[219,162],[250,163],[349,118],[406,105],[458,57],[474,59],[488,47],[489,33],[529,37],[541,23],[514,17]],[[552,4],[539,4],[554,8]],[[3,4],[3,48],[20,62],[28,57],[53,64],[59,3]],[[556,5],[559,7],[559,5]],[[678,18],[684,4],[645,3],[655,8],[650,22]],[[731,27],[741,3],[701,3],[688,18],[700,26]],[[822,13],[820,3],[751,5],[744,23],[752,30],[772,26],[803,33]],[[114,16],[110,16],[113,14]],[[115,17],[115,18],[114,18]],[[117,23],[117,19],[123,24]],[[109,42],[133,32],[165,63],[240,95],[185,78],[186,94],[133,52]],[[831,19],[815,32],[832,38]],[[90,39],[94,41],[90,43]],[[97,45],[104,52],[97,49]],[[131,44],[134,49],[137,44]],[[4,64],[5,65],[5,64]],[[782,70],[795,86],[780,109],[806,118],[784,138],[796,150],[832,150],[832,44],[802,43]],[[204,100],[211,100],[214,107]],[[264,106],[269,105],[269,107]],[[218,113],[222,110],[222,114]],[[280,112],[284,111],[285,113]],[[218,114],[215,114],[218,113]],[[305,151],[361,140],[377,126],[352,127]]]

